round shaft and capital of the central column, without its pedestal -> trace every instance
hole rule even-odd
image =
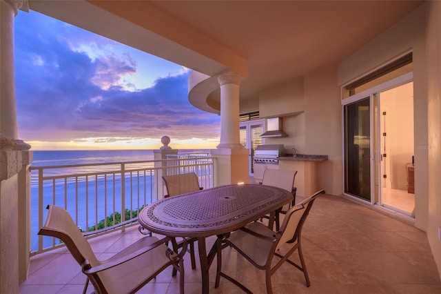
[[[217,148],[243,148],[239,137],[239,84],[242,77],[225,72],[220,85],[220,144]]]

